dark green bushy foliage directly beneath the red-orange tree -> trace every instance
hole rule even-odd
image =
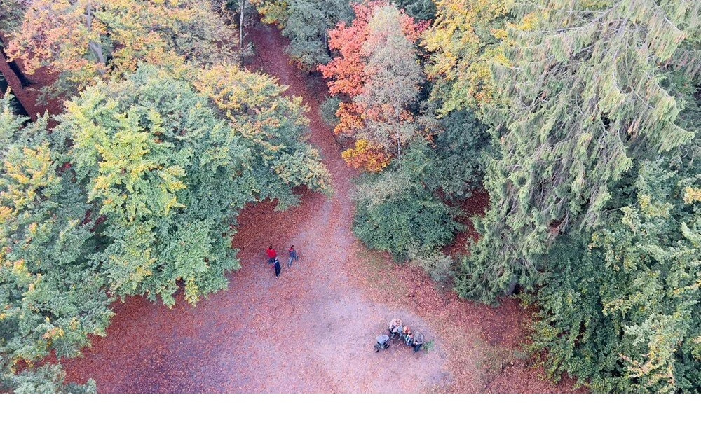
[[[358,185],[355,234],[397,259],[435,254],[462,226],[446,200],[463,200],[479,188],[489,137],[474,114],[451,113],[435,143],[415,143],[381,174]]]

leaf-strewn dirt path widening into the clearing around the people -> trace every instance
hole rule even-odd
[[[68,380],[97,381],[101,392],[479,392],[568,391],[540,380],[520,358],[527,314],[509,301],[496,309],[458,300],[423,272],[367,251],[353,236],[351,179],[318,107],[325,86],[288,63],[287,41],[270,26],[254,34],[250,66],[278,78],[309,106],[311,142],[332,172],[334,195],[304,192],[300,207],[249,206],[233,240],[243,268],[228,291],[172,310],[143,298],[116,303],[106,338],[84,357],[64,360]],[[264,259],[283,259],[275,280]],[[287,268],[294,244],[300,260]],[[397,343],[375,354],[392,317],[435,346],[414,354]]]

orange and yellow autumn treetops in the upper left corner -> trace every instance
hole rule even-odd
[[[172,71],[233,61],[231,27],[210,1],[34,0],[6,53],[25,70],[50,66],[57,91],[121,77],[139,62]]]

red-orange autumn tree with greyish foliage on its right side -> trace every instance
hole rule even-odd
[[[351,26],[341,23],[329,32],[329,46],[339,55],[319,70],[329,79],[330,94],[343,99],[334,132],[357,140],[343,153],[344,160],[380,172],[416,134],[409,108],[422,73],[414,43],[426,23],[414,22],[383,0],[357,4],[354,10]]]

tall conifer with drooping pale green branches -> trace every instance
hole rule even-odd
[[[498,158],[487,167],[491,207],[465,260],[458,292],[483,301],[533,287],[559,233],[594,228],[609,187],[636,160],[674,151],[694,133],[665,81],[700,24],[695,1],[540,1],[519,8],[508,66],[494,67],[507,106],[486,113]],[[693,56],[693,55],[692,55]],[[673,65],[673,66],[672,66]]]

